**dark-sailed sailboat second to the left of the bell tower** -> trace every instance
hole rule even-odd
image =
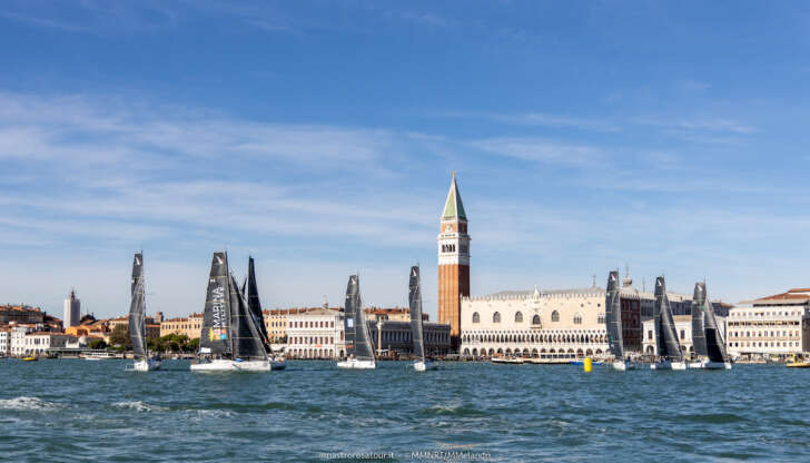
[[[363,314],[360,302],[359,275],[348,277],[346,286],[346,313],[344,316],[344,331],[346,333],[345,361],[338,362],[338,368],[347,370],[373,370],[377,367],[374,361],[368,325]]]

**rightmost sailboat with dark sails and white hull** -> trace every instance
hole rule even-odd
[[[731,370],[725,342],[718,328],[714,307],[708,298],[705,282],[694,284],[692,296],[692,344],[699,361],[690,370]]]

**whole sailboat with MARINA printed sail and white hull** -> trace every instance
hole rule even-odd
[[[192,372],[269,372],[270,362],[227,253],[214,253]]]

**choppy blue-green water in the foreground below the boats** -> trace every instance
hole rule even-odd
[[[616,373],[595,366],[408,363],[269,374],[152,373],[122,361],[0,361],[8,461],[796,461],[810,451],[810,370]],[[436,453],[445,452],[445,453]],[[421,460],[423,459],[424,460]],[[334,460],[333,460],[334,461]],[[470,461],[470,460],[467,460]],[[475,461],[475,459],[473,459]]]

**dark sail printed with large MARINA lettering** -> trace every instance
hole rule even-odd
[[[230,324],[233,311],[229,286],[228,254],[214,253],[199,339],[202,353],[216,356],[228,356],[233,353]],[[238,301],[234,301],[234,303],[238,303]]]

